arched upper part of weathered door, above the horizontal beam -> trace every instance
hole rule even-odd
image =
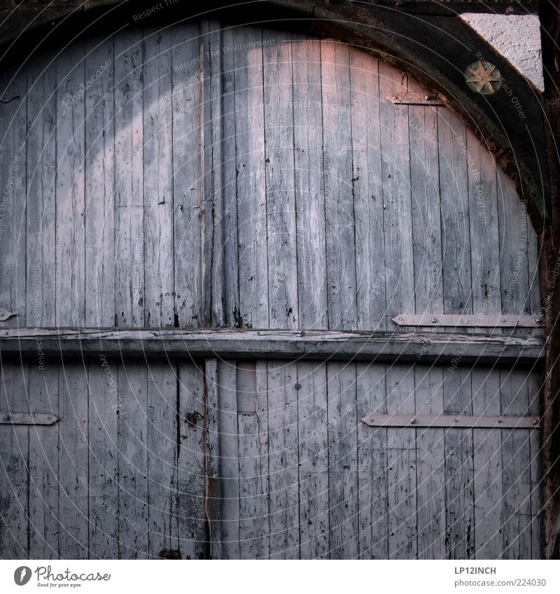
[[[449,109],[386,99],[423,92],[392,66],[218,22],[54,55],[10,83],[27,136],[24,100],[0,106],[2,178],[16,155],[32,162],[4,219],[15,284],[0,306],[18,317],[3,327],[392,330],[400,313],[538,313],[517,274],[536,269],[526,205]]]

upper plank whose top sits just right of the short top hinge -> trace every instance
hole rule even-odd
[[[437,108],[437,141],[444,312],[472,313],[465,125],[444,107]]]

